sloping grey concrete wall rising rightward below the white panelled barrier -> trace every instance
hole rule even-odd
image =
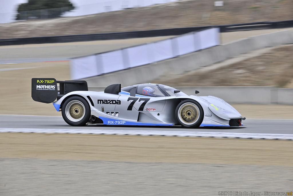
[[[113,83],[129,86],[149,82],[171,72],[181,74],[199,67],[209,66],[256,49],[292,43],[293,31],[291,30],[267,33],[144,66],[86,78],[85,80],[89,86],[108,86]]]

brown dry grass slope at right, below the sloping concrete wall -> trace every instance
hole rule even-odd
[[[197,70],[154,83],[169,86],[277,86],[285,87],[293,76],[293,46],[273,48],[269,52],[213,71]],[[163,80],[163,81],[162,81]]]

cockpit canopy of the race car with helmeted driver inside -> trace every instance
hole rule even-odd
[[[185,93],[174,93],[176,88],[163,84],[137,84],[121,88],[122,94],[130,96],[149,96],[149,97],[167,97],[167,96],[186,96]]]

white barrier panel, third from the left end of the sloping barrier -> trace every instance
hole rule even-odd
[[[149,47],[147,44],[126,48],[125,50],[127,51],[129,59],[129,67],[136,67],[152,63],[149,60],[148,48]]]

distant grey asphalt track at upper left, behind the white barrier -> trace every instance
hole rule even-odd
[[[72,57],[118,50],[173,36],[133,38],[123,40],[88,41],[52,44],[0,46],[0,64],[68,61]]]

